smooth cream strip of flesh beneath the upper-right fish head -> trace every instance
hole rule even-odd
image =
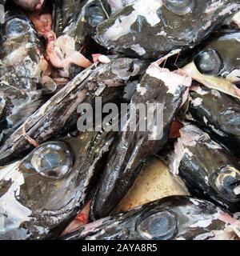
[[[240,99],[240,89],[233,82],[231,82],[236,80],[233,75],[231,75],[228,80],[227,78],[220,78],[212,75],[202,74],[198,71],[198,68],[194,62],[190,62],[181,70],[185,72],[188,76],[193,78],[195,81],[200,82],[202,85],[210,89],[219,90],[222,93],[229,94],[234,98]]]

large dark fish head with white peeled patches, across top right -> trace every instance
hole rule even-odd
[[[170,50],[196,46],[239,8],[230,0],[186,1],[180,6],[168,0],[139,0],[102,22],[95,39],[109,50],[156,59]]]

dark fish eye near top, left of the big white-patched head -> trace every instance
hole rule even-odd
[[[101,7],[92,5],[86,11],[86,21],[90,26],[98,26],[99,23],[106,20],[106,13]]]

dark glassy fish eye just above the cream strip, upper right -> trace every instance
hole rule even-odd
[[[215,50],[200,52],[195,56],[194,63],[202,74],[219,74],[222,68],[222,59]]]

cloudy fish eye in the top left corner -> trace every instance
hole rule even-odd
[[[18,38],[30,29],[28,22],[20,18],[13,18],[6,23],[6,36],[8,38]]]

